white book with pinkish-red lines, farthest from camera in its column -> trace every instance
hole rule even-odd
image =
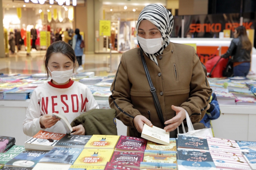
[[[234,140],[207,137],[210,151],[230,152],[241,154],[238,144]]]

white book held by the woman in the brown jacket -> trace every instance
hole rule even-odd
[[[141,137],[158,144],[170,145],[170,133],[155,126],[150,127],[144,124]]]

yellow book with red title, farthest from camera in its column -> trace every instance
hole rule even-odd
[[[115,147],[119,136],[117,135],[93,135],[84,148],[113,148]]]

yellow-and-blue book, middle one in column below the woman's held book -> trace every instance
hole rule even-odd
[[[143,162],[177,163],[176,151],[145,150]]]

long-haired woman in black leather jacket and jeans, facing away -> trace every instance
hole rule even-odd
[[[235,28],[234,39],[232,39],[228,51],[222,58],[232,56],[234,76],[246,77],[250,71],[252,43],[250,42],[244,26]]]

